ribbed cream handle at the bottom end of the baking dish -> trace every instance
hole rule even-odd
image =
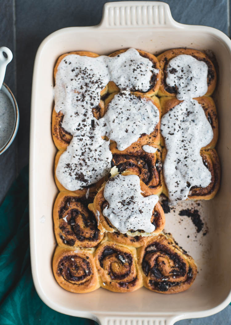
[[[178,316],[157,316],[157,317],[135,317],[135,316],[105,316],[97,315],[97,321],[100,325],[173,325]]]

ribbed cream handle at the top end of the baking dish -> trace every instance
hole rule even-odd
[[[99,27],[180,27],[165,2],[125,1],[108,2],[103,7],[103,17]]]

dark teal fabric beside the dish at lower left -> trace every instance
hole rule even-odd
[[[92,320],[50,309],[35,291],[30,265],[28,180],[25,167],[0,206],[0,324],[94,325]]]

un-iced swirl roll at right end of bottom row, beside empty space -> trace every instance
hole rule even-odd
[[[144,286],[160,293],[187,290],[197,275],[191,256],[180,248],[171,236],[160,234],[138,248],[138,265]]]

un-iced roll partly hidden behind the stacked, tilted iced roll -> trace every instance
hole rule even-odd
[[[118,150],[116,143],[110,144],[112,152],[112,166],[116,166],[120,173],[125,170],[138,175],[148,186],[152,194],[162,192],[163,171],[161,147],[148,145],[153,152],[147,152],[140,143],[134,143],[125,150]]]

